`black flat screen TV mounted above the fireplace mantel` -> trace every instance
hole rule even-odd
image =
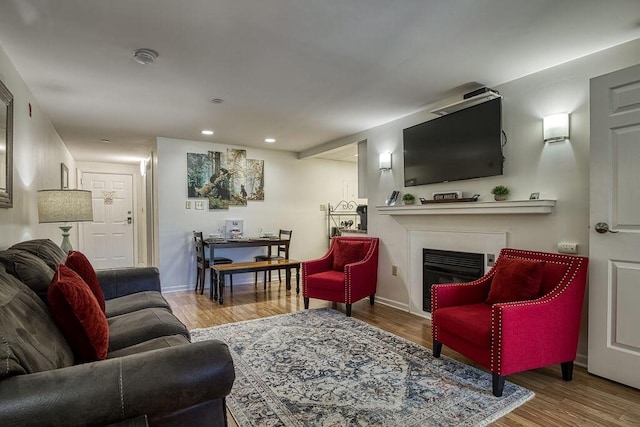
[[[502,175],[502,99],[403,131],[404,185]]]

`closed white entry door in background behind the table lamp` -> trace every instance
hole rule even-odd
[[[83,173],[93,198],[93,222],[84,223],[83,253],[96,269],[133,267],[133,177]]]

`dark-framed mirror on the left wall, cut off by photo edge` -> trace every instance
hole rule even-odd
[[[0,82],[0,208],[13,207],[13,95]]]

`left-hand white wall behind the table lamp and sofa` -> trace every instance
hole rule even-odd
[[[0,249],[32,238],[50,238],[59,244],[62,235],[56,224],[38,224],[36,192],[60,188],[60,163],[69,168],[69,185],[76,188],[75,161],[2,48],[0,80],[14,98],[13,208],[0,209]],[[74,227],[71,244],[77,247],[77,243]]]

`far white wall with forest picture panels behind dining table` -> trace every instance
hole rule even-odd
[[[245,149],[197,141],[169,138],[157,140],[157,202],[159,229],[159,268],[163,290],[194,286],[192,231],[205,236],[217,232],[227,219],[243,219],[245,236],[259,231],[292,229],[290,257],[317,258],[328,246],[327,219],[320,204],[336,204],[342,199],[356,200],[355,163],[320,159],[298,160],[294,153],[246,148],[247,158],[264,160],[264,201],[247,206],[209,211],[206,199],[187,198],[187,153]],[[205,210],[185,209],[185,201],[203,200]],[[227,249],[216,256],[234,261],[252,261],[262,249]],[[252,275],[234,275],[234,283],[253,280]]]

